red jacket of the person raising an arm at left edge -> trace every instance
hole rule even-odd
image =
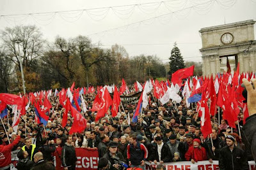
[[[0,145],[0,167],[6,167],[12,163],[12,148],[13,146],[17,145],[19,141],[20,136],[18,135],[10,145]]]

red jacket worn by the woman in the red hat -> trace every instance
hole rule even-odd
[[[206,150],[204,147],[200,147],[200,148],[194,148],[189,147],[188,152],[186,152],[185,154],[185,159],[186,160],[195,160],[195,162],[197,161],[201,161],[201,160],[207,160],[207,155],[206,155]]]

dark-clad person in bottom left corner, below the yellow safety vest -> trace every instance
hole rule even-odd
[[[19,162],[16,167],[18,170],[29,170],[34,165],[34,162],[28,158],[28,152],[24,150],[20,150],[17,157],[19,158]]]

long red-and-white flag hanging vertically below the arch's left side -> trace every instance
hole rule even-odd
[[[198,116],[201,118],[201,132],[204,138],[207,138],[207,136],[212,133],[212,126],[205,92],[202,92],[201,107]]]

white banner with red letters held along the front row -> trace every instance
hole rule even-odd
[[[157,162],[158,163],[158,162]],[[154,170],[156,169],[157,164],[150,164],[149,162],[145,162],[146,170]],[[254,161],[248,161],[250,170],[255,170],[256,165]],[[166,167],[166,170],[219,170],[219,161],[213,160],[212,164],[208,161],[198,161],[195,164],[192,164],[190,161],[184,162],[170,162],[163,164]]]

